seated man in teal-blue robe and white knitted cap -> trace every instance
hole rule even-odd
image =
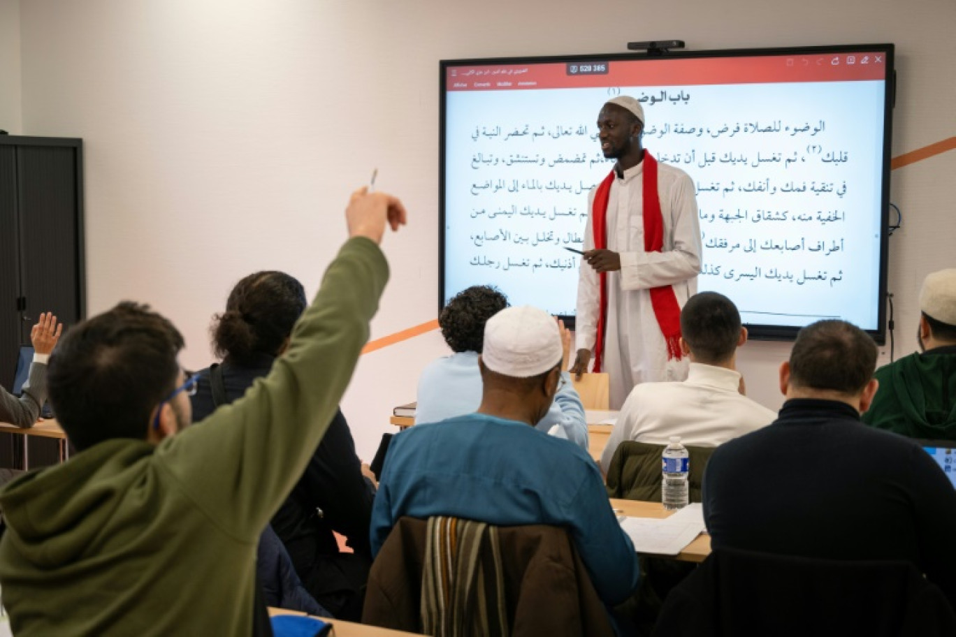
[[[640,568],[597,464],[573,442],[534,429],[554,400],[561,354],[543,310],[506,308],[489,319],[478,411],[392,439],[372,509],[373,556],[402,516],[564,526],[601,600],[627,598]]]

